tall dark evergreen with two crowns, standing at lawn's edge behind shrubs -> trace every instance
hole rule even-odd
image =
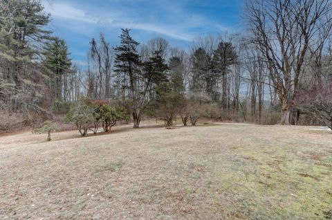
[[[147,94],[154,93],[156,85],[166,82],[165,72],[168,66],[161,51],[154,51],[146,62],[140,60],[137,53],[138,42],[129,35],[128,29],[122,29],[121,44],[115,48],[115,72],[124,82],[124,88],[129,91],[133,127],[140,125],[142,109],[147,103]]]

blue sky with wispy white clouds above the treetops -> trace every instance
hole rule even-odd
[[[241,29],[244,0],[43,0],[52,17],[48,28],[66,40],[71,57],[84,64],[92,37],[105,34],[119,43],[121,28],[130,28],[138,42],[163,37],[187,48],[196,37]]]

